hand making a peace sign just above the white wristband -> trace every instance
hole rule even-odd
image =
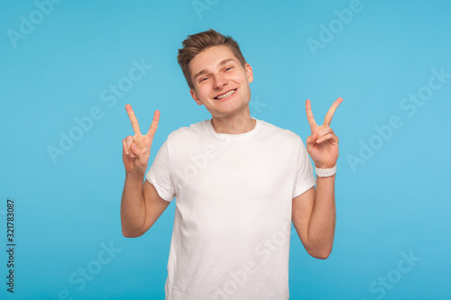
[[[334,168],[336,165],[336,159],[338,159],[338,137],[329,125],[336,112],[336,107],[342,102],[342,98],[336,99],[336,102],[330,106],[321,126],[318,126],[315,122],[311,112],[310,100],[306,102],[307,120],[311,130],[311,135],[306,140],[307,151],[317,168]]]

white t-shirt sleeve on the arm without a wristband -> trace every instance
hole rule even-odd
[[[146,179],[155,186],[161,198],[169,202],[174,199],[175,187],[170,176],[168,140],[164,141],[155,159],[153,159],[152,166],[146,174]]]

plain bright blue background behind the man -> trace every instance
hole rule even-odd
[[[188,34],[209,28],[232,35],[253,67],[254,117],[305,141],[305,100],[319,122],[336,97],[345,99],[332,123],[340,138],[334,250],[313,259],[292,235],[291,299],[451,298],[451,77],[425,87],[433,69],[451,74],[451,2],[362,0],[346,23],[336,10],[353,1],[48,4],[0,3],[2,299],[163,299],[175,205],[143,237],[122,236],[121,141],[133,132],[124,105],[142,128],[161,111],[151,161],[170,132],[209,118],[176,60]],[[23,20],[35,23],[22,25],[26,34]],[[115,102],[103,101],[133,59],[152,68]],[[405,106],[410,94],[428,91],[421,105]],[[52,159],[60,132],[76,134],[74,118],[93,107],[101,117]],[[392,117],[399,126],[389,130]],[[8,197],[14,295],[5,285]],[[81,279],[80,268],[96,274]]]

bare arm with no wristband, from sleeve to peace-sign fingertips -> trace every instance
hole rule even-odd
[[[132,106],[125,106],[133,126],[134,136],[123,141],[125,184],[121,201],[121,223],[124,237],[143,235],[170,204],[158,195],[147,180],[143,183],[153,136],[158,127],[160,112],[155,111],[149,132],[141,134]]]

